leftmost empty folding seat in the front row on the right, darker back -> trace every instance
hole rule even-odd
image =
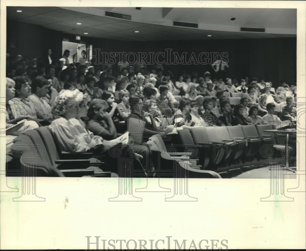
[[[209,166],[210,155],[211,155],[211,145],[196,145],[192,139],[191,133],[188,129],[178,130],[179,138],[179,149],[182,152],[191,152],[190,158],[197,159],[198,164],[202,166],[202,169],[214,168]],[[195,149],[196,147],[196,149]]]

